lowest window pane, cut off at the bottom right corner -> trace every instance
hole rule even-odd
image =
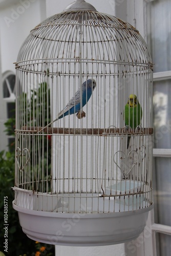
[[[171,236],[168,236],[167,234],[156,233],[156,247],[157,256],[170,256]]]

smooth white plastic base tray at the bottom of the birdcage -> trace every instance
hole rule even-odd
[[[66,214],[16,206],[20,225],[35,241],[68,246],[104,246],[136,239],[153,205],[125,212]]]

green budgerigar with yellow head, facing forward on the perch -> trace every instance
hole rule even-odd
[[[142,108],[138,102],[137,96],[131,94],[124,109],[125,125],[129,125],[132,129],[136,129],[140,125],[142,119]],[[127,137],[127,148],[129,148],[131,136]]]

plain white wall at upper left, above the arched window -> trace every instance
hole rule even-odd
[[[29,35],[30,30],[39,24],[42,19],[46,18],[40,12],[40,2],[41,6],[43,6],[45,5],[45,0],[17,2],[3,9],[0,4],[2,72],[7,70],[15,72],[13,62],[16,61],[20,46]]]

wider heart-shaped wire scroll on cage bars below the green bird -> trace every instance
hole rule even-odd
[[[118,161],[115,160],[117,158],[118,153],[120,154],[120,157],[119,157],[120,161],[121,161],[121,163],[123,163],[121,165],[119,165]],[[134,155],[134,157],[133,157],[133,155]],[[134,168],[134,166],[138,163],[138,158],[139,158],[138,153],[135,150],[130,151],[130,153],[127,156],[125,155],[125,153],[123,151],[117,151],[114,154],[114,163],[118,166],[118,168],[121,170],[121,172],[125,176],[127,176],[127,175],[129,175],[131,170]],[[131,161],[132,161],[132,166],[131,167],[126,165],[126,162],[127,162],[126,159],[131,159]],[[127,169],[127,172],[125,171],[125,169]]]

